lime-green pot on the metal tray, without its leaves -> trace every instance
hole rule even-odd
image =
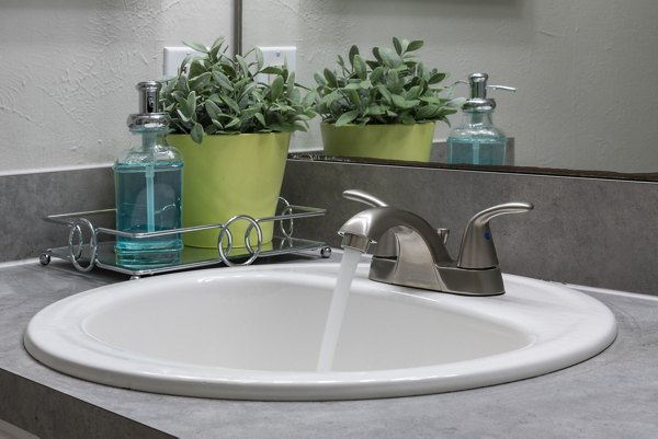
[[[185,163],[183,227],[226,223],[237,215],[272,217],[283,183],[290,132],[205,136],[201,145],[188,135],[169,135]],[[262,222],[263,244],[272,241],[273,222]],[[245,247],[249,223],[229,228],[235,247]],[[185,245],[216,249],[219,230],[183,233]],[[257,234],[250,234],[256,246]]]

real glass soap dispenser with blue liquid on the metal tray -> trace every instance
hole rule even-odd
[[[167,145],[169,115],[159,111],[161,84],[137,84],[139,113],[128,116],[131,148],[114,163],[116,229],[129,233],[181,228],[183,161]],[[149,268],[180,261],[180,233],[148,238],[116,236],[118,265]]]

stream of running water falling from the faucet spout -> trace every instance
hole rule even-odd
[[[345,308],[348,307],[348,299],[350,298],[350,288],[352,286],[352,280],[354,279],[354,274],[356,273],[356,266],[361,259],[361,254],[362,253],[358,250],[349,247],[344,249],[336,288],[333,289],[333,296],[331,297],[331,305],[329,307],[325,335],[322,336],[322,344],[320,345],[320,356],[317,367],[318,372],[328,372],[333,366],[338,337],[340,335]]]

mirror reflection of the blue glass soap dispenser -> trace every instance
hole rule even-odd
[[[472,73],[470,97],[462,107],[464,120],[447,137],[447,162],[467,164],[504,164],[507,137],[494,126],[491,113],[496,101],[487,97],[487,89],[517,91],[506,85],[487,85],[487,73]]]

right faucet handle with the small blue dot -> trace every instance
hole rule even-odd
[[[489,229],[489,220],[499,215],[524,213],[534,208],[530,203],[506,203],[476,213],[464,231],[457,267],[484,269],[498,266],[498,255],[494,245],[494,236]]]

